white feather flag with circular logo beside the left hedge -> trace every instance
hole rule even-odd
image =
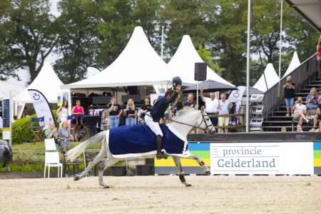
[[[45,128],[48,128],[49,123],[54,121],[54,116],[46,97],[35,89],[28,89],[28,91],[31,96],[31,101],[34,103],[34,110],[36,111],[37,117],[44,117],[44,126]]]

